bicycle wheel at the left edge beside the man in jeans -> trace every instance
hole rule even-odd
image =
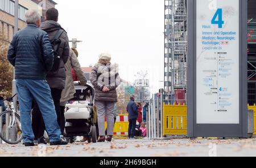
[[[0,115],[0,137],[8,144],[18,144],[22,141],[23,136],[18,114],[15,113],[15,117],[13,117],[13,113],[7,111]]]

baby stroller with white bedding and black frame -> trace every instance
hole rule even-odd
[[[74,142],[74,136],[85,136],[88,143],[97,142],[94,118],[94,89],[90,85],[75,83],[74,98],[65,105],[65,133]]]

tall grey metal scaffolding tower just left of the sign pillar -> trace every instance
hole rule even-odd
[[[187,89],[187,0],[164,0],[165,99]]]

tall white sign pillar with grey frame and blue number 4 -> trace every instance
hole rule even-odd
[[[246,32],[246,0],[188,0],[189,137],[246,137]]]

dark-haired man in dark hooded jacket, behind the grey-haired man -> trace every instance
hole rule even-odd
[[[51,94],[53,98],[53,102],[55,105],[55,111],[57,114],[57,121],[59,126],[61,124],[61,120],[64,120],[64,113],[61,113],[60,110],[60,98],[61,92],[65,88],[65,67],[64,64],[68,61],[69,58],[69,40],[67,32],[61,27],[59,23],[57,23],[59,17],[59,12],[56,8],[49,8],[46,11],[46,21],[40,25],[40,28],[47,32],[49,35],[49,39],[53,41],[53,38],[58,38],[60,40],[59,48],[57,51],[57,55],[59,58],[59,63],[55,64],[57,67],[53,67],[55,70],[51,70],[48,72],[46,76],[46,80],[51,88]],[[59,33],[60,32],[60,33]],[[59,33],[59,37],[56,35]],[[40,110],[38,105],[33,107],[32,111],[32,127],[35,133],[36,138],[38,138],[38,143],[45,143],[44,140],[44,123],[42,119],[42,115],[40,114]],[[64,135],[63,130],[61,129],[61,133]]]

